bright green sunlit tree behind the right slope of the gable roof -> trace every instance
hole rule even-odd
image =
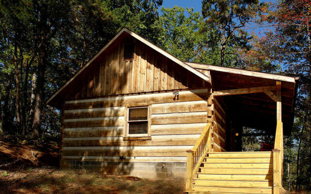
[[[209,36],[202,33],[204,19],[200,12],[193,8],[182,7],[161,8],[162,15],[157,22],[161,33],[158,36],[159,46],[182,61],[213,63],[213,49],[209,44]],[[216,45],[217,47],[217,45]]]

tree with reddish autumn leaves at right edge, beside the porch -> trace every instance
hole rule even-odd
[[[294,166],[290,178],[285,180],[296,190],[311,189],[311,1],[280,0],[271,4],[261,16],[259,25],[268,23],[265,35],[258,39],[259,52],[272,64],[283,67],[282,74],[299,77],[296,99],[293,139],[285,149],[297,154],[287,161]],[[294,145],[294,146],[293,146]],[[284,164],[286,164],[284,162]],[[286,166],[284,166],[286,168]]]

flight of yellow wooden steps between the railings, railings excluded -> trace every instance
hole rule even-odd
[[[189,194],[272,194],[272,152],[211,152]]]

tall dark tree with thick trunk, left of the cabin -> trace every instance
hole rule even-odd
[[[35,92],[34,119],[32,124],[32,136],[39,136],[40,117],[44,98],[45,70],[49,54],[49,46],[57,31],[61,30],[68,21],[69,2],[60,1],[33,1],[32,12],[35,14],[35,51],[38,53],[38,69]],[[35,30],[34,29],[34,30]]]

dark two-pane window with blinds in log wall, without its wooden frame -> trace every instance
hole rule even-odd
[[[148,133],[148,107],[128,109],[128,134]]]

